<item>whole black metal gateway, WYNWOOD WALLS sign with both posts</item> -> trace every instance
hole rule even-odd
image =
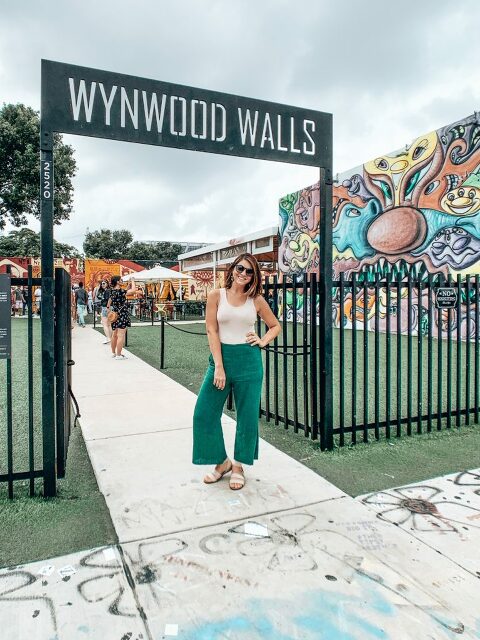
[[[332,448],[332,115],[42,60],[40,210],[45,495],[55,495],[56,492],[54,132],[288,162],[320,169],[320,397],[317,402],[322,448]],[[312,318],[312,322],[315,319]]]

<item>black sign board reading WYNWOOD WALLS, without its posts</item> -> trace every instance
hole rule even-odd
[[[42,129],[329,167],[332,116],[42,60]]]

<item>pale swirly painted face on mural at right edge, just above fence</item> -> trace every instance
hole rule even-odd
[[[466,269],[478,260],[480,240],[462,227],[445,227],[437,233],[426,253],[435,267],[445,264]]]

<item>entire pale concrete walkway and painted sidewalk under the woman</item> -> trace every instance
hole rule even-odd
[[[194,394],[74,334],[120,543],[1,571],[2,640],[480,638],[480,469],[354,500],[261,442],[243,491],[207,487]]]

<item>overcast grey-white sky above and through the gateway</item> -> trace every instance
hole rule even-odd
[[[40,108],[40,60],[333,113],[334,171],[480,110],[478,0],[0,0],[0,103]],[[277,224],[312,168],[65,136],[58,240],[128,228],[214,242]],[[30,226],[38,228],[32,223]]]

